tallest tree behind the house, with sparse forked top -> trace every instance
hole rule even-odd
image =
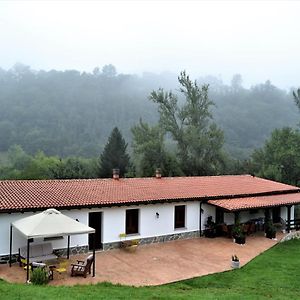
[[[177,144],[181,169],[186,175],[216,174],[223,164],[223,132],[212,122],[208,85],[198,86],[185,72],[178,77],[185,98],[179,106],[172,91],[153,91],[150,100],[158,104],[160,125]]]

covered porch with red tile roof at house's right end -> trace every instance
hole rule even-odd
[[[236,224],[241,225],[244,235],[267,232],[270,226],[287,233],[300,229],[300,219],[295,213],[295,207],[300,204],[299,193],[209,200],[207,204],[215,209],[214,224],[219,225],[219,232],[225,231],[230,237]]]

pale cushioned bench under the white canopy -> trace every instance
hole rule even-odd
[[[27,260],[27,247],[19,248],[20,262],[22,259]],[[32,244],[29,246],[29,263],[44,262],[47,260],[57,259],[57,255],[53,254],[51,243]]]

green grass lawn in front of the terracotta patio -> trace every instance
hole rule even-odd
[[[276,245],[242,269],[157,287],[73,287],[0,281],[0,299],[300,299],[300,240]]]

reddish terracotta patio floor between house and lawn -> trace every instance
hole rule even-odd
[[[277,234],[278,240],[282,237],[283,234]],[[55,273],[50,285],[103,281],[134,286],[160,285],[230,270],[232,254],[236,254],[241,265],[245,265],[277,242],[262,235],[247,237],[244,246],[228,238],[196,238],[139,246],[134,253],[120,249],[98,252],[94,278],[89,275],[87,278],[71,277],[70,271],[63,275]],[[70,263],[85,256],[72,256]],[[12,268],[1,265],[0,277],[9,282],[23,283],[26,272],[18,264],[13,264]]]

